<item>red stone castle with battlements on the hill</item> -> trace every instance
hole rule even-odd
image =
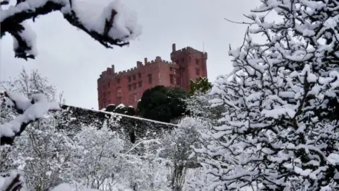
[[[99,109],[109,104],[136,108],[143,92],[155,86],[182,88],[189,91],[190,80],[207,77],[207,53],[191,47],[176,50],[172,45],[171,62],[156,57],[155,60],[136,62],[136,67],[126,71],[114,71],[114,65],[103,71],[97,79]]]

